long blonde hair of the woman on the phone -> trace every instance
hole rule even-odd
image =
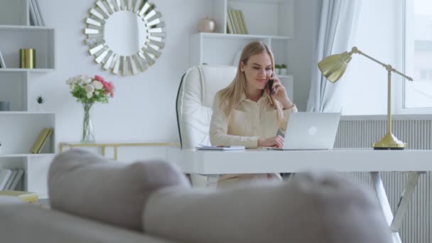
[[[247,61],[252,55],[261,53],[269,54],[271,58],[271,70],[274,70],[274,55],[270,48],[261,41],[251,42],[247,44],[242,50],[242,55],[240,56],[240,61],[237,66],[237,73],[234,77],[234,80],[232,80],[232,82],[227,87],[225,87],[225,89],[220,90],[217,93],[220,98],[219,107],[223,112],[225,112],[228,118],[231,116],[232,110],[235,109],[237,104],[239,104],[241,101],[240,99],[242,95],[246,94],[247,81],[246,75],[240,70],[241,63],[243,62],[244,65],[247,65]],[[277,111],[276,116],[278,119],[279,128],[284,130],[286,121],[284,119],[284,112],[282,112],[282,104],[276,99],[273,99],[273,101],[273,107]]]

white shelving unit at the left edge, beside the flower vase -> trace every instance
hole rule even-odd
[[[0,101],[9,102],[10,111],[0,112],[0,168],[23,168],[23,190],[44,198],[50,159],[55,154],[55,114],[33,111],[29,94],[31,75],[55,70],[55,29],[30,26],[30,0],[0,0],[0,50],[6,68],[0,68]],[[19,68],[19,49],[36,50],[36,68]],[[42,153],[30,153],[44,127],[54,133]]]

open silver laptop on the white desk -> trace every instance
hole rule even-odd
[[[291,113],[286,124],[284,147],[274,150],[333,149],[340,113]]]

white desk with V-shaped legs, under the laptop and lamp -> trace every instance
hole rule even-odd
[[[409,200],[423,171],[432,171],[432,150],[384,151],[373,149],[334,149],[330,151],[196,151],[168,149],[168,161],[185,173],[219,175],[225,173],[292,173],[306,170],[370,172],[377,198],[382,205],[394,242],[401,242],[399,229]],[[408,172],[401,202],[393,215],[382,184],[380,171]]]

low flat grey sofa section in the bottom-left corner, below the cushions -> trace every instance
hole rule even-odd
[[[169,243],[148,234],[0,197],[1,242]],[[173,242],[171,242],[173,243]]]

